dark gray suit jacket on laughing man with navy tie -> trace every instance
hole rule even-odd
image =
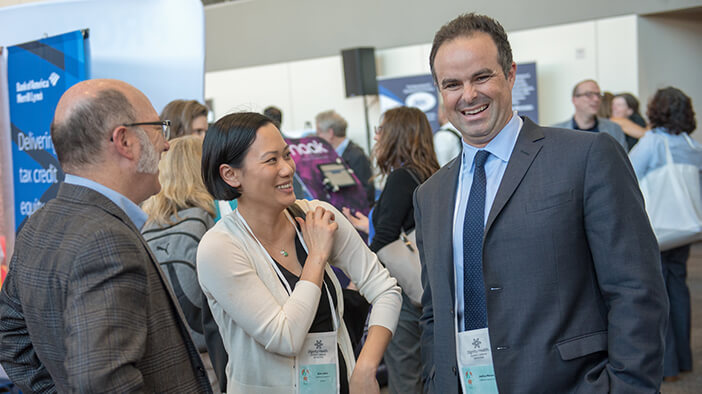
[[[428,392],[457,393],[453,207],[460,156],[415,193]],[[529,119],[488,216],[483,275],[501,393],[655,392],[668,302],[624,150]]]

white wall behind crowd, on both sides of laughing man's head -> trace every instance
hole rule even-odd
[[[599,80],[603,90],[638,92],[636,23],[635,16],[625,16],[509,33],[515,61],[537,63],[542,124],[572,115],[571,90],[580,80]],[[427,74],[430,50],[431,44],[378,50],[377,74]],[[216,118],[276,105],[283,110],[284,131],[302,129],[317,113],[335,109],[349,122],[349,137],[366,147],[362,99],[345,97],[341,56],[209,72],[205,96],[213,99]],[[380,108],[377,97],[368,99],[372,128]]]

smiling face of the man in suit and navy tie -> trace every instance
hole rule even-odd
[[[476,32],[441,45],[434,70],[448,120],[466,143],[487,145],[512,117],[516,64],[505,77],[492,38]]]

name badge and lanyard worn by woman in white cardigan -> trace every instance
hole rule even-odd
[[[246,220],[243,216],[241,216],[238,209],[236,210],[236,214],[239,216],[242,223],[244,223],[244,226],[246,226],[246,229],[249,231],[251,236],[265,252],[266,248],[263,247],[263,244],[261,244],[258,238],[256,238],[256,235],[254,235],[251,227],[249,227],[249,224],[246,223]],[[300,243],[305,249],[305,252],[309,253],[305,240],[302,237],[302,234],[300,234],[300,231],[297,229],[292,217],[287,214],[287,211],[285,214],[295,228],[297,237],[300,239]],[[280,278],[283,286],[285,286],[285,290],[287,290],[288,294],[292,294],[290,284],[285,279],[285,276],[283,276],[283,273],[280,272],[280,269],[278,269],[278,266],[273,261],[273,258],[268,254],[268,252],[265,252],[265,255],[268,257],[269,263],[278,275],[278,278]],[[331,309],[334,330],[328,332],[308,333],[305,337],[302,350],[297,357],[295,357],[295,364],[297,366],[297,370],[299,371],[297,392],[300,394],[338,394],[340,391],[339,357],[337,355],[338,346],[336,342],[336,331],[339,329],[339,321],[336,317],[336,308],[334,308],[334,302],[331,298],[329,287],[324,279],[322,279],[322,284],[324,285],[324,292],[327,294],[327,298],[329,299],[329,308]]]

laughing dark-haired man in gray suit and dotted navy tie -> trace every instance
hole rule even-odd
[[[463,152],[415,193],[428,392],[656,392],[667,299],[624,150],[511,109],[507,35],[462,15],[430,65]]]

